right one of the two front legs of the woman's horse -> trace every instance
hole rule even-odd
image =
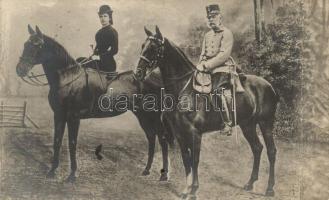
[[[79,118],[70,118],[67,122],[68,132],[69,132],[69,150],[70,150],[70,161],[71,161],[71,173],[67,177],[66,182],[75,182],[76,176],[75,172],[77,170],[77,160],[76,160],[76,148],[77,139],[80,126]]]

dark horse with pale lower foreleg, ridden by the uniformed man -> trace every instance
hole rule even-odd
[[[138,68],[144,71],[140,78],[143,78],[145,71],[150,72],[157,66],[160,68],[165,92],[172,95],[174,100],[173,111],[163,113],[163,118],[166,127],[171,129],[181,148],[187,180],[182,196],[183,199],[195,199],[199,187],[198,165],[202,135],[205,132],[220,129],[222,118],[215,109],[207,109],[209,98],[197,99],[198,94],[193,90],[192,81],[190,81],[196,69],[184,53],[175,44],[162,37],[158,27],[155,34],[147,29],[145,32],[148,37],[142,46],[138,63]],[[252,190],[253,183],[258,179],[263,149],[256,134],[258,124],[264,137],[270,163],[266,195],[273,196],[276,147],[272,129],[278,96],[272,86],[258,76],[247,75],[243,87],[245,92],[236,94],[237,123],[254,155],[251,177],[244,188]],[[210,106],[215,107],[214,104]]]

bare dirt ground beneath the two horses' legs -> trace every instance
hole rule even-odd
[[[41,109],[40,109],[41,108]],[[0,199],[110,199],[175,200],[184,188],[184,170],[178,148],[170,150],[170,180],[159,182],[162,157],[159,145],[151,174],[141,176],[147,161],[147,141],[131,113],[108,119],[83,120],[78,139],[78,179],[69,174],[67,137],[55,179],[46,179],[52,156],[53,129],[47,104],[29,104],[28,113],[41,126],[2,128]],[[67,135],[67,133],[66,133]],[[265,197],[268,179],[266,149],[259,180],[252,192],[242,189],[252,168],[252,154],[241,132],[203,138],[199,166],[199,200],[329,199],[329,145],[276,139],[275,197]],[[262,141],[263,142],[263,141]],[[103,160],[94,148],[103,144]]]

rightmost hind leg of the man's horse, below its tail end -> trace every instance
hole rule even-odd
[[[266,149],[267,149],[267,157],[270,162],[270,173],[269,173],[269,179],[268,179],[268,185],[266,189],[266,195],[267,196],[274,196],[274,190],[273,186],[275,184],[275,178],[274,178],[274,166],[275,166],[275,159],[276,159],[276,147],[273,139],[273,119],[268,121],[260,121],[259,127],[262,131]]]

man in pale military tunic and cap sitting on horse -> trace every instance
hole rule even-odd
[[[230,65],[234,64],[230,57],[234,38],[232,32],[222,24],[222,16],[218,4],[208,5],[206,11],[208,26],[211,30],[204,36],[197,70],[211,73],[213,89],[219,91],[219,87],[224,87],[230,80]],[[240,81],[237,80],[235,83],[236,92],[243,92],[244,89]],[[224,121],[222,132],[230,133],[232,122],[229,117],[227,102],[223,94],[221,96],[222,104],[226,109],[225,112],[221,113]]]

